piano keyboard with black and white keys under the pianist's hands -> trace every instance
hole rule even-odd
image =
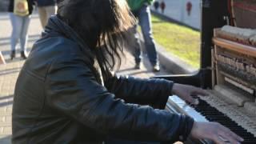
[[[182,113],[189,115],[194,118],[196,122],[219,122],[223,126],[228,127],[235,134],[238,134],[244,138],[245,144],[256,144],[256,137],[254,134],[251,134],[242,126],[239,126],[237,122],[234,122],[232,119],[223,114],[215,107],[210,106],[206,101],[198,99],[199,104],[197,106],[190,106],[186,104],[178,96],[171,96],[167,102],[166,109],[171,110],[175,113]],[[201,143],[212,143],[209,140],[201,140]]]

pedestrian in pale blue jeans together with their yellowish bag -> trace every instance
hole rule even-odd
[[[10,12],[10,22],[13,27],[10,38],[11,60],[15,58],[15,50],[18,40],[21,45],[21,57],[23,59],[27,58],[27,30],[30,24],[30,14],[32,14],[33,11],[33,4],[33,0],[10,0],[8,11]]]

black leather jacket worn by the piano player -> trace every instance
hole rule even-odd
[[[164,79],[102,78],[89,48],[54,16],[18,76],[12,142],[102,143],[108,137],[172,142],[186,138],[193,119],[158,110],[165,107],[172,86],[173,82]]]

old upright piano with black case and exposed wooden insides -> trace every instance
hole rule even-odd
[[[238,28],[238,34],[223,33],[226,25]],[[245,143],[256,143],[256,30],[255,35],[239,33],[249,29],[256,29],[256,0],[202,0],[200,69],[194,74],[155,78],[202,87],[210,97],[200,99],[200,106],[170,97],[166,109],[196,121],[222,122],[247,138]],[[189,139],[187,143],[211,142]]]

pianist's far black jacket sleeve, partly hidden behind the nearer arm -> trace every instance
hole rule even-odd
[[[117,98],[122,98],[126,102],[164,109],[171,95],[173,82],[165,79],[142,79],[110,74],[105,86]]]

